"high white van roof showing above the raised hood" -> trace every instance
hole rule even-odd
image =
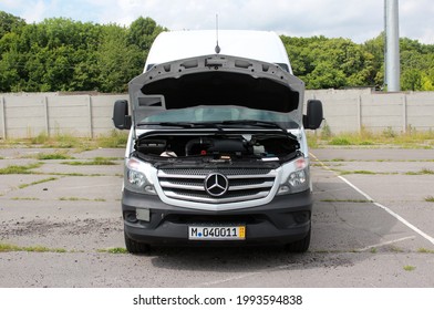
[[[155,39],[145,64],[215,54],[216,30],[186,30],[162,32]],[[271,31],[219,30],[220,54],[276,63],[292,73],[288,54],[280,38]]]

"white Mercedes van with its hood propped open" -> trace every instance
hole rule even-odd
[[[149,246],[286,245],[306,251],[311,182],[309,101],[272,32],[165,32],[117,101],[131,130],[122,197],[130,252]],[[130,108],[128,108],[130,107]],[[128,110],[131,115],[128,115]]]

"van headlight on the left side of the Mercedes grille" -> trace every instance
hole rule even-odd
[[[152,166],[134,157],[125,162],[125,187],[135,193],[156,194],[149,177]]]

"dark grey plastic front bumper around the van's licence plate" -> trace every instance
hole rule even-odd
[[[149,221],[136,218],[136,208],[149,209]],[[236,210],[204,211],[164,204],[158,196],[124,189],[124,229],[128,238],[148,245],[241,246],[285,245],[303,239],[310,231],[310,190],[276,196],[269,204]],[[190,225],[245,225],[245,240],[188,240]]]

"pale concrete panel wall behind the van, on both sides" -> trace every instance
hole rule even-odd
[[[113,103],[126,94],[0,94],[0,137],[72,134],[94,137],[112,131]],[[434,130],[434,92],[374,93],[370,90],[307,91],[323,103],[332,133]]]

